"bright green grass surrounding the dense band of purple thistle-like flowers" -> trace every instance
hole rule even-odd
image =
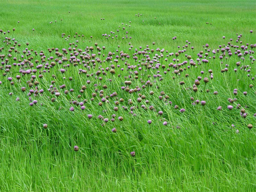
[[[78,47],[85,49],[97,42],[112,52],[117,45],[119,50],[127,51],[128,42],[134,48],[147,44],[153,48],[152,42],[156,42],[154,48],[177,52],[177,46],[188,40],[195,47],[193,53],[189,52],[196,58],[206,43],[212,49],[227,44],[222,36],[236,40],[236,33],[243,34],[244,43],[256,43],[255,8],[255,1],[1,0],[0,29],[12,33],[15,28],[13,36],[21,48],[29,42],[28,48],[38,52],[51,47],[67,49],[77,32],[84,35]],[[142,16],[136,17],[138,13]],[[125,28],[132,39],[102,37],[110,31],[122,31],[122,23],[131,25]],[[252,35],[250,30],[254,31]],[[65,41],[62,33],[71,35],[71,40]],[[177,40],[173,41],[173,36]],[[235,62],[231,60],[230,65]],[[219,70],[213,63],[210,68]],[[253,64],[254,76],[255,69]],[[15,102],[16,97],[0,87],[0,191],[256,191],[256,121],[252,116],[256,97],[248,87],[251,80],[241,78],[243,81],[236,84],[236,77],[230,76],[227,85],[222,74],[216,72],[213,86],[219,95],[217,99],[213,94],[207,96],[207,105],[199,108],[199,116],[190,105],[185,115],[170,113],[166,108],[164,117],[168,118],[169,113],[172,122],[163,126],[151,113],[138,118],[126,114],[124,122],[116,124],[116,134],[111,132],[113,127],[102,128],[99,120],[86,117],[102,111],[97,104],[87,103],[82,118],[78,112],[57,110],[61,103],[31,108],[26,95],[17,95],[20,102]],[[76,82],[72,86],[79,90],[81,85]],[[226,108],[229,89],[237,85],[241,91],[248,91],[246,97],[242,93],[237,96],[243,106],[249,106],[246,110],[250,117],[245,122],[235,110],[230,117]],[[185,93],[180,93],[174,81],[163,86],[173,105],[184,104]],[[115,87],[120,87],[120,82]],[[120,88],[116,92],[127,97]],[[150,99],[157,111],[163,110],[165,106],[157,97]],[[216,110],[218,105],[223,106],[223,112]],[[240,130],[232,134],[231,140],[230,118]],[[150,126],[148,119],[153,122]],[[199,129],[202,121],[207,134]],[[42,128],[44,123],[48,129]],[[249,123],[254,125],[250,134],[246,127]],[[177,125],[181,129],[176,129]],[[73,151],[74,145],[79,146],[79,152]],[[133,150],[134,158],[130,156]]]

